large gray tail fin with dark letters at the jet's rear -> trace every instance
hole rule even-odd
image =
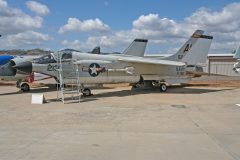
[[[196,30],[176,54],[166,59],[185,62],[188,65],[205,63],[213,37],[203,33],[202,30]]]

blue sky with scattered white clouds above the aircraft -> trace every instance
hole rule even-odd
[[[174,53],[195,29],[214,36],[211,53],[240,41],[240,2],[233,0],[0,0],[1,49],[122,51],[149,39],[147,53]]]

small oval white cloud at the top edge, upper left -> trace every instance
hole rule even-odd
[[[36,13],[37,15],[46,16],[47,14],[50,13],[49,8],[46,5],[41,4],[39,2],[28,1],[26,2],[26,5],[32,12]]]

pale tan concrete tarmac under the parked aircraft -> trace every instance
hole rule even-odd
[[[0,159],[240,159],[239,88],[93,92],[62,104],[55,89],[0,86]],[[32,93],[48,103],[31,104]]]

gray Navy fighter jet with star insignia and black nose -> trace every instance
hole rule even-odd
[[[84,88],[84,85],[102,83],[131,83],[135,86],[151,83],[165,92],[168,85],[187,82],[202,73],[199,62],[206,62],[212,39],[212,36],[204,35],[203,31],[197,30],[177,53],[161,59],[144,57],[147,40],[135,39],[122,54],[58,52],[43,56],[33,63],[24,62],[15,68],[23,72],[31,70],[51,75],[56,79],[58,69],[61,68],[63,79],[67,82],[74,77],[72,66],[77,65],[85,95],[91,95],[91,90]]]

